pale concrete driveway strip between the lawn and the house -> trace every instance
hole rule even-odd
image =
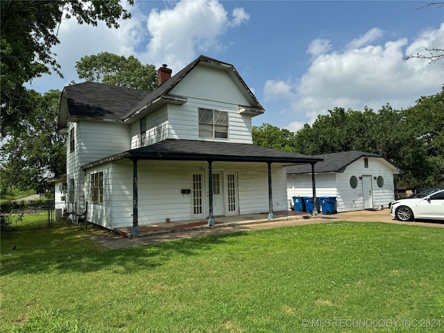
[[[264,219],[263,215],[257,214],[257,219],[250,219],[249,221],[234,221],[230,223],[221,223],[213,227],[207,227],[206,225],[200,228],[184,228],[176,229],[173,232],[153,232],[147,234],[146,237],[121,237],[116,232],[110,232],[109,234],[99,234],[89,237],[105,248],[117,249],[128,248],[134,246],[144,246],[146,244],[161,243],[163,241],[174,241],[179,239],[189,239],[194,237],[202,237],[210,234],[226,234],[230,232],[241,232],[248,230],[259,229],[271,229],[280,228],[291,225],[307,225],[316,223],[330,223],[334,221],[356,221],[356,222],[383,222],[383,223],[395,223],[395,224],[408,224],[408,225],[422,225],[434,228],[444,228],[444,221],[416,221],[416,222],[401,222],[393,219],[389,210],[364,210],[359,212],[345,212],[332,215],[319,214],[318,217],[310,217],[309,219],[294,218],[294,219],[275,219],[268,221]]]

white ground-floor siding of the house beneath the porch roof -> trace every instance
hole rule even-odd
[[[239,186],[240,214],[268,212],[267,164],[214,163],[214,171],[236,173]],[[162,162],[137,163],[138,174],[138,221],[139,225],[182,221],[192,219],[191,194],[182,194],[181,189],[191,189],[193,173],[204,176],[204,210],[207,214],[207,162]],[[89,205],[91,219],[105,228],[133,225],[133,162],[106,164],[94,171],[103,171],[103,205]],[[272,164],[273,210],[287,210],[285,193],[285,169]],[[88,171],[89,184],[89,171]],[[89,187],[89,185],[88,185]],[[89,189],[87,197],[89,198]],[[203,216],[205,219],[205,216]]]

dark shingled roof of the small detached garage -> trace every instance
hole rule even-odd
[[[313,155],[314,158],[322,158],[323,162],[319,162],[315,166],[316,173],[343,173],[345,168],[361,157],[376,157],[384,160],[384,162],[393,169],[394,173],[402,173],[395,165],[388,162],[382,155],[364,153],[363,151],[343,151],[341,153],[330,153],[322,155]],[[287,167],[287,175],[298,175],[311,173],[311,165],[295,165]]]

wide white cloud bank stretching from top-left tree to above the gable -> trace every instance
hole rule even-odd
[[[220,51],[220,37],[228,28],[244,24],[250,18],[243,8],[235,8],[231,21],[222,4],[217,0],[181,0],[164,3],[165,9],[153,9],[144,15],[139,6],[143,1],[130,6],[132,18],[119,21],[118,29],[108,28],[103,22],[97,26],[78,25],[76,19],[62,22],[59,30],[60,44],[53,52],[61,66],[65,79],[57,74],[35,80],[31,88],[46,92],[62,89],[71,80],[76,80],[76,61],[108,51],[121,56],[135,56],[144,64],[160,67],[166,63],[173,74],[182,69],[198,55],[207,51]],[[123,2],[123,6],[127,6]],[[145,43],[145,44],[144,44]]]

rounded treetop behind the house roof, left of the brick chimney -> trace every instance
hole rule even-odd
[[[85,56],[76,62],[79,78],[133,89],[152,91],[157,88],[157,71],[154,65],[142,65],[134,56],[125,58],[102,52]]]

